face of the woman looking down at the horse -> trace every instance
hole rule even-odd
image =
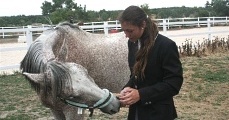
[[[136,42],[144,32],[144,27],[138,27],[125,21],[121,23],[121,27],[126,37],[132,42]]]

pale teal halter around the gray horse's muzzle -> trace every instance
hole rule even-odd
[[[100,99],[98,102],[96,102],[94,105],[89,106],[87,104],[83,104],[83,103],[77,103],[71,100],[67,100],[67,99],[63,99],[60,98],[64,103],[74,106],[74,107],[79,107],[79,108],[84,108],[84,109],[89,109],[90,111],[90,115],[89,117],[91,117],[93,115],[94,109],[95,108],[104,108],[106,107],[114,98],[114,96],[109,92],[109,90],[107,89],[103,89],[103,91],[105,92],[105,95],[102,99]]]

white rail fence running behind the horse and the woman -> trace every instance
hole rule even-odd
[[[158,27],[161,28],[161,32],[168,37],[180,37],[180,36],[193,36],[193,35],[208,35],[208,39],[211,39],[211,34],[215,33],[228,33],[229,30],[224,31],[212,31],[211,27],[215,25],[229,25],[229,17],[201,17],[201,18],[176,18],[176,19],[157,19]],[[42,31],[47,30],[50,26],[42,25],[38,26],[26,26],[21,28],[16,27],[0,27],[0,40],[7,36],[26,36],[27,47],[11,47],[11,48],[0,48],[0,52],[27,50],[33,41],[33,35],[41,34]],[[104,32],[109,34],[110,30],[119,30],[120,24],[118,21],[105,21],[105,22],[91,22],[84,23],[80,26],[83,30],[88,32]],[[208,30],[202,33],[186,33],[169,35],[167,34],[168,29],[183,28],[183,27],[207,27]],[[7,69],[19,68],[19,64],[0,66],[0,71]]]

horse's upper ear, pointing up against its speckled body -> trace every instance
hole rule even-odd
[[[63,44],[60,48],[60,51],[59,51],[56,59],[57,59],[57,61],[65,62],[65,60],[67,59],[67,56],[68,56],[68,47],[67,47],[66,39],[64,39]]]

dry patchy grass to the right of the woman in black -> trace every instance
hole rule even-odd
[[[182,58],[184,84],[175,103],[180,120],[229,119],[229,54]]]

